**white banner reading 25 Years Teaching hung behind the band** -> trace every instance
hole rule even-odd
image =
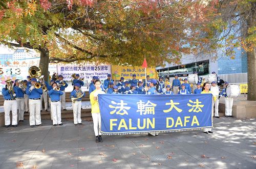
[[[79,74],[84,77],[84,81],[92,80],[93,76],[98,76],[100,80],[104,80],[111,74],[111,65],[87,65],[87,66],[77,66],[77,65],[58,65],[57,74],[62,75],[64,80],[71,80],[71,75]]]

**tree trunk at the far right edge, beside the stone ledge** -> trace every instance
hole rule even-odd
[[[256,101],[256,51],[247,51],[248,95],[247,100]]]

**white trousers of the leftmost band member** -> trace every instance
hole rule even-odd
[[[17,125],[17,101],[16,100],[5,100],[5,125],[10,125],[10,111],[12,110],[12,125]]]

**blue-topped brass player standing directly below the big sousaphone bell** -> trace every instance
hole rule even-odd
[[[26,94],[29,95],[29,124],[30,127],[35,125],[41,126],[41,115],[40,115],[40,95],[42,89],[35,89],[36,78],[31,79],[31,85],[27,87]]]

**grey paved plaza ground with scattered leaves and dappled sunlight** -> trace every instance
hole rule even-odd
[[[103,135],[93,123],[53,127],[0,127],[0,168],[256,168],[256,119],[214,119],[214,134],[202,130]]]

